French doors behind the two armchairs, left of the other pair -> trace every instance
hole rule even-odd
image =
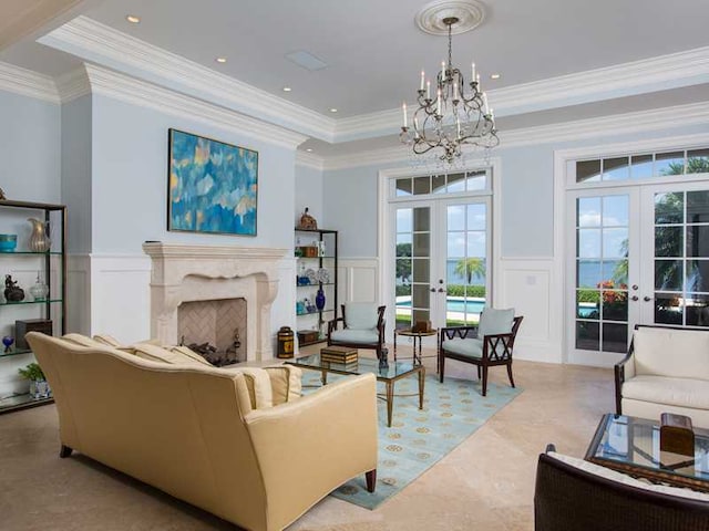
[[[477,197],[391,204],[398,329],[418,321],[434,327],[477,323],[490,294],[490,202]]]

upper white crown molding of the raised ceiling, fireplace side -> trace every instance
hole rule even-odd
[[[80,15],[39,39],[86,61],[332,142],[335,119]]]

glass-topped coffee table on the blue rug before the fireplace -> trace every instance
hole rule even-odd
[[[322,362],[320,354],[311,354],[309,356],[297,357],[294,361],[286,362],[289,365],[296,365],[300,368],[309,371],[319,371],[321,374],[322,385],[328,383],[328,373],[333,374],[367,374],[372,373],[379,382],[383,382],[387,386],[384,396],[380,396],[387,400],[387,426],[391,427],[391,415],[393,410],[394,396],[415,396],[415,395],[394,395],[394,382],[401,378],[419,376],[419,409],[423,409],[423,386],[425,378],[425,368],[423,365],[407,362],[390,362],[388,366],[382,367],[378,360],[370,357],[359,357],[354,363],[333,363]]]

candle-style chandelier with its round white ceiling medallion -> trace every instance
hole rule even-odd
[[[475,28],[483,17],[482,4],[473,0],[432,2],[417,15],[417,23],[423,31],[448,33],[448,61],[441,62],[433,86],[421,71],[413,127],[409,127],[407,104],[402,106],[400,139],[411,146],[417,156],[433,152],[440,163],[451,165],[463,155],[464,146],[490,149],[500,144],[494,113],[481,88],[475,63],[471,64],[469,83],[453,65],[453,33]]]

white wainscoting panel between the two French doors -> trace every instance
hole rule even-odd
[[[524,315],[515,357],[562,363],[561,281],[552,258],[503,258],[495,283],[496,308],[514,308]]]

